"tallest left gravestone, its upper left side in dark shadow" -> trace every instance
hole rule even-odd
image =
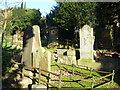
[[[33,66],[33,52],[41,47],[40,28],[37,25],[28,26],[23,35],[23,56],[22,62],[25,65]]]

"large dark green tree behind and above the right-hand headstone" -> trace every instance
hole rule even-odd
[[[96,6],[95,2],[59,2],[47,15],[47,23],[59,28],[60,40],[73,40],[75,27],[96,25]]]

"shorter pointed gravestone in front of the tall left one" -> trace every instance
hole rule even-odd
[[[40,47],[37,51],[33,52],[33,66],[42,70],[50,71],[51,66],[51,52],[46,51],[43,47]],[[49,74],[41,71],[42,74],[48,76]],[[44,81],[48,81],[45,76],[40,76]],[[37,76],[39,77],[39,75]]]

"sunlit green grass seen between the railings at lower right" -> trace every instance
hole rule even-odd
[[[83,70],[83,69],[68,66],[68,65],[61,65],[61,64],[58,64],[58,63],[54,62],[53,60],[52,60],[52,66],[51,66],[52,71],[58,71],[59,70],[59,67],[57,65],[60,66],[62,70],[66,69],[66,70],[71,71],[70,76],[62,75],[62,78],[61,78],[61,80],[62,80],[61,87],[62,88],[64,88],[64,87],[65,88],[67,88],[67,87],[71,87],[71,88],[74,88],[74,87],[91,88],[91,84],[92,84],[91,81],[80,81],[80,79],[94,79],[94,78],[102,77],[101,73],[98,73],[98,72],[92,72],[92,76],[94,76],[94,77],[90,77],[90,71],[88,71],[88,70]],[[74,74],[72,73],[73,70],[74,70]],[[63,72],[63,74],[64,73],[65,72]],[[94,86],[105,83],[106,80],[111,80],[111,79],[110,78],[105,78],[104,80],[95,81]],[[58,85],[57,83],[58,83],[58,81],[56,81],[55,84]],[[119,85],[114,82],[114,83],[109,83],[109,84],[107,84],[105,86],[102,86],[100,88],[116,88],[116,87],[119,87]]]

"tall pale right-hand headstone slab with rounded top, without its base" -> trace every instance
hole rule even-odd
[[[80,59],[88,59],[94,62],[93,59],[94,36],[93,28],[84,25],[80,30]]]

